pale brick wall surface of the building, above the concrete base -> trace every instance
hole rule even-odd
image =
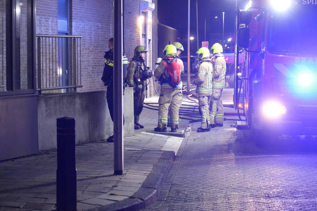
[[[148,0],[152,2],[152,0]],[[57,0],[37,0],[36,34],[57,34]],[[112,0],[71,0],[70,34],[81,35],[81,84],[79,92],[104,90],[101,75],[104,68],[104,52],[108,51],[108,39],[113,37],[114,9]],[[157,14],[157,13],[155,13]],[[138,26],[139,0],[124,1],[124,50],[128,59],[134,48],[140,45]],[[155,21],[157,15],[152,15]],[[148,25],[149,63],[152,67],[152,23]],[[157,44],[154,44],[157,46]],[[151,81],[152,82],[152,81]],[[152,96],[152,83],[149,90]]]

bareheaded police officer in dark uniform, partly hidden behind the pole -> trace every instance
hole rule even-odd
[[[109,39],[108,42],[109,51],[105,52],[105,67],[103,69],[101,80],[104,86],[107,86],[107,104],[110,112],[111,120],[113,121],[113,38]],[[128,58],[123,54],[123,81],[125,80],[126,69],[128,66]],[[123,86],[124,93],[124,86]],[[123,118],[124,124],[124,118]],[[113,142],[113,135],[107,139],[107,142]]]

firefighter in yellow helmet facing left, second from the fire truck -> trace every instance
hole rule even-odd
[[[199,69],[197,77],[191,82],[197,85],[196,93],[198,94],[198,104],[201,109],[201,127],[197,132],[210,131],[210,112],[209,105],[212,94],[212,64],[210,63],[210,52],[208,48],[202,47],[197,52],[198,57],[201,59],[199,62]]]

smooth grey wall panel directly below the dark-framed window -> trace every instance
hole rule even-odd
[[[36,153],[36,96],[1,97],[0,160]]]

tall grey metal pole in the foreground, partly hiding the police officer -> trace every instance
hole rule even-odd
[[[122,0],[114,0],[113,102],[114,174],[123,175]]]

